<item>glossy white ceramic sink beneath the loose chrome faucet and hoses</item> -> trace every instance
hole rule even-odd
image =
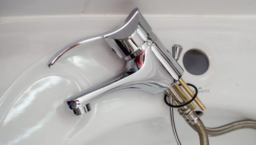
[[[143,13],[143,11],[141,12]],[[104,40],[80,46],[48,68],[52,55],[68,43],[119,26],[126,16],[0,17],[1,145],[176,145],[163,94],[114,93],[91,103],[91,111],[72,117],[63,100],[120,73],[124,61]],[[256,17],[145,15],[165,46],[207,54],[209,68],[184,80],[198,88],[205,104],[201,119],[216,127],[256,119]],[[199,108],[197,108],[199,110]],[[183,145],[199,145],[175,110]],[[210,137],[211,145],[254,145],[256,130]]]

